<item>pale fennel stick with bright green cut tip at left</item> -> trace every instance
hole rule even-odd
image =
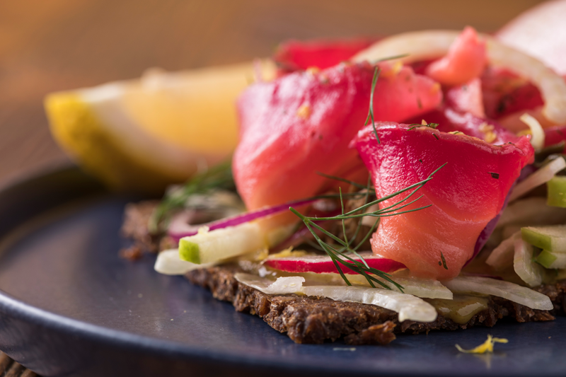
[[[253,253],[266,247],[260,226],[249,222],[214,231],[201,228],[194,236],[180,239],[179,256],[187,262],[202,265]]]

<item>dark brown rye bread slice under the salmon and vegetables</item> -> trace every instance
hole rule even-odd
[[[439,315],[432,323],[405,320],[398,322],[397,313],[379,306],[363,303],[334,301],[330,298],[264,294],[238,283],[236,265],[197,269],[185,276],[193,284],[212,291],[214,298],[229,301],[236,311],[259,315],[260,318],[296,343],[320,344],[327,340],[344,338],[347,344],[388,344],[395,334],[418,334],[430,330],[457,330],[473,326],[492,327],[497,320],[509,318],[517,322],[554,320],[564,313],[566,281],[539,287],[555,304],[555,310],[538,311],[504,298],[491,297],[488,308],[474,315],[466,324],[459,325]]]

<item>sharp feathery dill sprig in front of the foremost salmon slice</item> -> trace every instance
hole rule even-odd
[[[428,178],[426,178],[426,179],[424,179],[420,182],[417,182],[413,185],[410,185],[408,187],[405,187],[402,190],[399,190],[397,192],[393,192],[393,194],[386,195],[385,197],[381,197],[381,198],[373,200],[371,202],[367,202],[367,198],[369,196],[369,187],[370,187],[370,180],[368,180],[368,184],[367,184],[367,187],[366,187],[367,190],[365,192],[365,194],[366,194],[365,204],[363,204],[362,206],[360,206],[356,209],[352,209],[352,211],[348,211],[348,212],[344,211],[344,202],[343,202],[343,199],[342,199],[342,190],[340,190],[339,195],[340,195],[340,204],[341,204],[341,207],[342,207],[342,213],[340,215],[337,215],[337,216],[309,217],[309,216],[305,216],[305,215],[301,214],[299,211],[297,211],[293,207],[289,207],[289,210],[291,212],[293,212],[294,214],[296,214],[296,216],[298,216],[299,219],[301,219],[304,222],[306,228],[308,228],[308,231],[310,231],[313,234],[313,237],[315,238],[315,240],[318,243],[318,245],[320,246],[320,248],[322,250],[324,250],[325,253],[333,261],[337,271],[340,273],[340,276],[342,277],[342,279],[344,279],[344,281],[346,282],[347,285],[352,285],[352,284],[350,283],[350,281],[347,279],[346,275],[344,274],[342,267],[346,267],[347,269],[351,269],[353,272],[356,272],[357,274],[361,274],[367,280],[367,282],[369,282],[369,284],[374,288],[376,287],[374,283],[377,283],[377,284],[383,286],[383,288],[385,288],[385,289],[391,289],[391,287],[388,286],[386,283],[384,283],[380,279],[376,278],[376,277],[381,277],[381,279],[386,280],[387,282],[390,282],[391,284],[396,286],[401,292],[403,292],[403,286],[400,286],[400,284],[394,282],[393,279],[391,279],[390,274],[387,274],[386,272],[380,271],[379,269],[369,267],[367,265],[367,262],[364,260],[364,258],[357,253],[357,249],[367,240],[367,238],[369,238],[371,233],[373,233],[374,229],[379,224],[379,219],[381,217],[395,216],[395,215],[398,215],[398,214],[406,214],[406,213],[409,213],[409,212],[419,211],[420,209],[425,209],[425,208],[431,207],[432,204],[429,204],[427,206],[418,207],[418,208],[415,208],[415,209],[408,209],[408,210],[405,210],[405,211],[399,211],[400,209],[408,207],[410,204],[413,204],[413,203],[417,202],[417,200],[422,198],[422,195],[421,195],[420,197],[417,197],[417,199],[413,199],[412,201],[410,201],[408,203],[406,202],[410,197],[412,197],[412,195],[415,195],[415,193],[418,190],[420,190],[420,188],[423,187],[429,180],[432,180],[432,177],[434,176],[434,174],[436,174],[445,165],[446,165],[446,163],[444,163],[444,165],[437,168],[437,170],[434,170],[428,176]],[[412,191],[409,193],[409,195],[407,195],[403,199],[400,199],[398,202],[395,202],[394,204],[389,205],[388,207],[383,207],[381,209],[377,209],[376,211],[371,211],[371,212],[368,212],[368,213],[364,212],[365,209],[373,206],[374,204],[379,204],[379,203],[381,203],[381,202],[383,202],[387,199],[391,199],[391,198],[396,197],[400,194],[403,194],[403,192],[408,192],[410,190],[412,190]],[[348,240],[348,238],[346,236],[344,221],[347,220],[347,219],[357,219],[357,218],[361,218],[361,217],[364,217],[364,216],[375,217],[376,222],[375,222],[374,226],[371,227],[370,231],[366,234],[364,239],[360,243],[358,243],[357,246],[352,248],[351,247],[352,242],[353,242],[353,240],[355,240],[357,238],[357,232],[359,232],[359,228],[361,228],[361,221],[358,224],[356,235],[354,237],[350,238],[350,240]],[[324,228],[322,228],[321,226],[319,226],[318,224],[315,223],[315,221],[325,221],[325,220],[342,221],[342,231],[344,233],[344,240],[335,236],[333,233],[326,231]],[[337,246],[336,245],[330,245],[329,243],[326,243],[325,241],[323,241],[320,238],[320,236],[318,236],[316,230],[318,230],[319,232],[322,232],[323,234],[325,234],[326,236],[328,236],[329,238],[334,240],[337,243]],[[359,257],[359,260],[355,260],[354,258],[348,256],[347,253],[354,254],[355,256]],[[376,277],[374,277],[372,275],[374,275]]]

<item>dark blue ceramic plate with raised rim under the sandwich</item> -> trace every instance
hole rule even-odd
[[[132,198],[70,168],[0,192],[0,349],[43,376],[560,376],[566,319],[401,335],[387,347],[294,344],[183,277],[127,262]],[[460,354],[487,334],[491,355]]]

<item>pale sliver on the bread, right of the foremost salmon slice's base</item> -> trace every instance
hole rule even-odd
[[[545,294],[504,280],[459,276],[444,282],[444,285],[454,293],[490,294],[541,311],[550,311],[554,308],[552,301]]]

